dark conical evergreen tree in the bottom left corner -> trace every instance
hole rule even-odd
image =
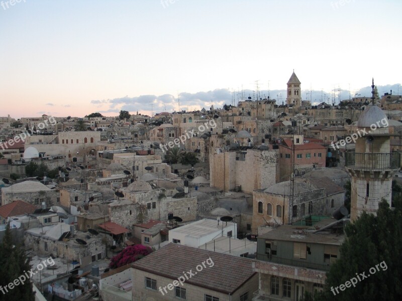
[[[30,269],[29,258],[21,245],[14,245],[10,226],[8,225],[3,241],[0,244],[0,274],[2,275],[0,277],[0,287],[4,292],[0,293],[0,301],[35,300],[32,282],[29,279],[26,279],[24,284],[19,282],[18,287],[16,285],[13,289],[8,287],[8,292],[5,288],[9,283],[13,283],[20,276],[25,275],[25,271]]]

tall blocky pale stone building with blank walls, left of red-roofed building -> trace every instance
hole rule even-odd
[[[213,148],[210,155],[211,187],[225,192],[241,189],[252,193],[254,189],[264,189],[276,183],[276,168],[276,150],[222,151]]]

